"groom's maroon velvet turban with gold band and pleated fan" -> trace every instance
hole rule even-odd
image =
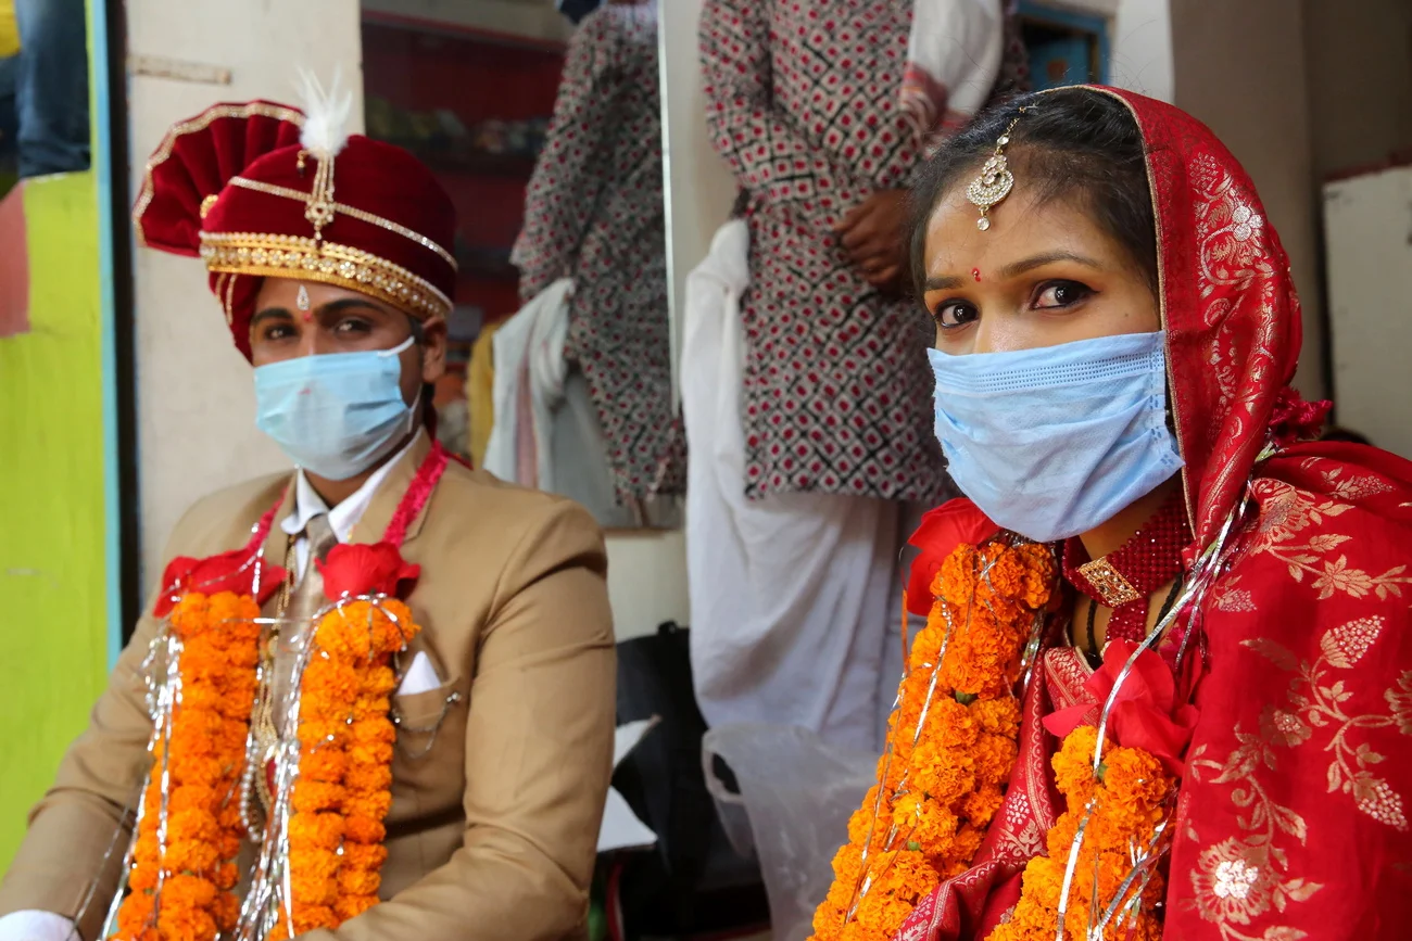
[[[304,124],[302,111],[270,102],[216,104],[175,124],[133,210],[143,244],[205,260],[246,357],[265,277],[350,288],[419,320],[452,306],[456,210],[432,172],[356,134],[323,172]]]

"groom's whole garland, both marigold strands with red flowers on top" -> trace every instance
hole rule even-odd
[[[253,873],[257,887],[271,893],[260,906],[273,901],[287,916],[264,941],[287,938],[291,921],[298,934],[337,927],[378,900],[397,741],[388,718],[397,684],[390,663],[418,631],[397,597],[411,591],[421,569],[401,557],[400,546],[448,463],[446,450],[433,443],[383,540],[339,543],[315,561],[333,605],[315,626],[313,656],[299,679],[298,773],[271,801]],[[169,635],[158,636],[154,652],[168,641],[175,663],[158,657],[150,677],[157,690],[154,763],[130,849],[127,894],[109,935],[114,941],[217,941],[250,930],[234,887],[236,858],[251,827],[241,784],[258,773],[246,766],[260,686],[257,619],[288,576],[263,563],[260,546],[287,497],[260,518],[244,547],[178,556],[162,576],[154,615],[167,619]],[[287,855],[277,839],[282,825]],[[285,873],[292,897],[284,897]]]

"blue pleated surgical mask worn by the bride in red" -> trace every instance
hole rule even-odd
[[[1182,468],[1166,426],[1165,340],[929,350],[952,480],[994,522],[1036,542],[1113,519]]]

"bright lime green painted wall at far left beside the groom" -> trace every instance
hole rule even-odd
[[[95,175],[24,189],[30,333],[0,340],[0,870],[107,669]]]

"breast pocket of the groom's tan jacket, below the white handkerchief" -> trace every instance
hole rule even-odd
[[[418,797],[424,807],[445,799],[459,804],[465,791],[466,708],[469,684],[443,683],[422,693],[393,697],[397,749],[393,790]]]

